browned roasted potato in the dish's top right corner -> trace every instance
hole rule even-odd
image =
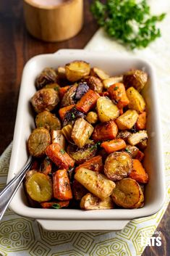
[[[124,74],[123,81],[127,88],[133,86],[140,92],[148,81],[148,75],[143,70],[130,70]]]

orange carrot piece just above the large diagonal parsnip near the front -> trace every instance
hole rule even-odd
[[[103,170],[102,157],[98,155],[96,157],[92,157],[90,160],[86,162],[83,162],[82,165],[79,165],[77,166],[77,168],[75,168],[75,173],[82,167],[100,173]]]

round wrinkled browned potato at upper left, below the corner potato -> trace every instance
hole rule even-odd
[[[53,88],[43,88],[34,94],[31,103],[37,113],[54,110],[59,103],[59,93]]]

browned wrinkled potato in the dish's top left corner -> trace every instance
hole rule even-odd
[[[53,68],[46,67],[38,78],[35,80],[35,86],[38,90],[46,86],[48,83],[55,83],[57,78],[56,72]]]

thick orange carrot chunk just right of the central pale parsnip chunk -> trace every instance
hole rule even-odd
[[[99,123],[95,126],[92,139],[94,141],[106,141],[108,139],[115,139],[117,132],[118,128],[114,121]]]

